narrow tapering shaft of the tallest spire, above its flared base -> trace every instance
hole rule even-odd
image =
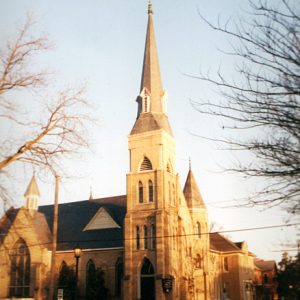
[[[154,113],[162,113],[164,111],[162,103],[164,90],[160,78],[160,68],[158,62],[152,15],[152,2],[149,1],[148,26],[140,91],[142,93],[142,91],[146,89],[146,93],[150,94],[150,111]]]

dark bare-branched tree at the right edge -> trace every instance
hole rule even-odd
[[[266,183],[248,204],[283,205],[300,212],[300,6],[293,0],[249,0],[250,18],[213,24],[230,41],[238,79],[219,69],[194,76],[217,87],[221,100],[192,101],[201,113],[224,119],[224,128],[247,130],[252,138],[217,140],[230,150],[254,154],[230,170]],[[233,26],[231,26],[233,24]],[[225,51],[224,51],[225,52]]]

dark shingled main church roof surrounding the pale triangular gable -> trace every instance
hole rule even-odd
[[[115,248],[123,246],[123,221],[126,214],[126,196],[117,196],[92,201],[62,203],[58,206],[57,250]],[[116,200],[116,201],[114,201]],[[104,207],[121,228],[83,231],[98,210]],[[40,206],[52,231],[53,205]]]

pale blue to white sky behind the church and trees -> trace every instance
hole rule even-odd
[[[167,111],[176,140],[176,170],[183,186],[191,158],[210,221],[224,231],[299,222],[289,220],[278,207],[232,207],[233,200],[253,194],[263,182],[222,171],[236,161],[236,155],[199,137],[221,137],[222,123],[199,114],[190,104],[190,100],[220,96],[207,83],[187,75],[201,71],[213,74],[221,66],[225,74],[234,76],[234,61],[220,51],[229,49],[229,41],[201,21],[199,13],[215,22],[218,18],[234,20],[245,13],[247,3],[153,0],[161,77],[168,93]],[[49,92],[57,86],[87,84],[86,98],[95,108],[93,117],[99,122],[98,127],[90,129],[93,152],[84,153],[80,160],[67,165],[76,176],[61,178],[59,201],[87,199],[91,188],[94,198],[125,194],[127,137],[137,112],[135,99],[142,72],[147,0],[1,0],[1,48],[16,36],[27,13],[36,21],[32,34],[46,34],[53,45],[33,66],[51,70]],[[30,99],[24,99],[22,104],[34,112]],[[16,166],[13,172],[15,205],[21,206],[33,170]],[[53,178],[37,180],[40,204],[53,203]],[[258,257],[276,260],[280,260],[282,250],[290,248],[284,244],[297,239],[295,228],[290,227],[226,234],[233,241],[246,240]]]

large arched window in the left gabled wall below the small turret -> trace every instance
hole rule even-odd
[[[26,298],[30,293],[30,253],[23,239],[11,251],[10,297]]]

